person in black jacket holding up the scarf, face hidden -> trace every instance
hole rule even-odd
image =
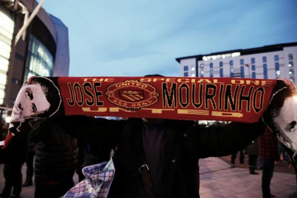
[[[261,130],[254,132],[254,128],[264,130],[261,122],[199,127],[182,120],[65,116],[45,119],[32,132],[46,130],[53,120],[82,143],[117,147],[108,198],[148,198],[140,172],[143,165],[148,166],[155,198],[197,198],[199,159],[242,150],[260,135]],[[143,158],[146,164],[140,162]]]

